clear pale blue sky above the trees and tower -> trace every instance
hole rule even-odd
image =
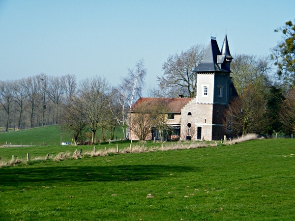
[[[144,59],[147,88],[169,55],[227,33],[232,55],[268,55],[294,0],[0,0],[0,80],[105,76],[116,85]],[[145,95],[145,94],[144,94]]]

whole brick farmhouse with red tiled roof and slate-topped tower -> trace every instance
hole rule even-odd
[[[140,125],[139,114],[145,116],[147,123],[146,139],[223,138],[225,135],[224,111],[230,101],[237,96],[230,77],[232,59],[227,35],[225,35],[221,51],[216,38],[211,37],[202,62],[193,70],[198,79],[196,97],[140,98],[131,107],[133,128],[130,131],[130,138],[139,139],[135,133],[136,130],[143,128],[143,125]],[[159,106],[162,107],[160,111],[157,108]],[[142,107],[142,111],[139,111],[139,107]]]

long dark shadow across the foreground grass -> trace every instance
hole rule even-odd
[[[198,167],[132,165],[132,166],[46,166],[0,170],[0,187],[33,186],[34,183],[144,181],[178,176]]]

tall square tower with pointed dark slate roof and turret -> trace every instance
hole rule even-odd
[[[197,73],[197,139],[220,139],[225,135],[222,127],[225,108],[232,91],[230,53],[227,36],[219,50],[216,38],[211,37],[202,62],[196,67]]]

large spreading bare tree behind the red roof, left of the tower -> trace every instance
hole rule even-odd
[[[187,51],[178,55],[169,55],[162,65],[164,74],[157,77],[158,86],[165,96],[184,94],[194,97],[197,87],[197,74],[193,72],[205,55],[204,45],[192,46]]]

